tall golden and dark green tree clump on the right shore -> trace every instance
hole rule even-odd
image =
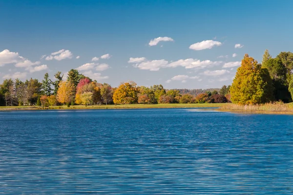
[[[230,87],[230,98],[242,105],[292,102],[293,53],[281,52],[272,58],[266,50],[262,63],[246,54]]]

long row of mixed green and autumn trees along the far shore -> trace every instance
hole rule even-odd
[[[56,106],[97,104],[157,104],[157,103],[224,103],[230,101],[229,87],[206,91],[198,95],[167,90],[163,85],[137,86],[133,81],[121,83],[117,88],[85,77],[71,69],[67,78],[61,72],[54,80],[46,73],[40,82],[36,78],[5,79],[0,84],[1,106]]]

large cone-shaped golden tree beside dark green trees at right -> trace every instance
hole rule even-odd
[[[257,104],[273,99],[272,79],[266,68],[246,54],[230,87],[231,100],[238,104]]]

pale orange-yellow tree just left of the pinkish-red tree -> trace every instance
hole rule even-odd
[[[59,89],[57,92],[57,100],[62,103],[71,102],[75,95],[75,86],[70,81],[62,81],[59,83]]]

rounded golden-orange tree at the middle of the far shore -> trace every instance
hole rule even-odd
[[[135,82],[121,84],[113,94],[115,104],[132,104],[137,102],[138,89]]]

